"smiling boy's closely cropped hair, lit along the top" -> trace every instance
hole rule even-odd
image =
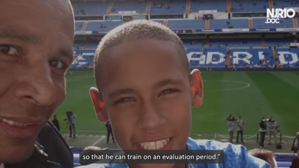
[[[155,39],[173,44],[178,51],[178,55],[182,57],[182,62],[185,64],[185,71],[187,75],[190,74],[189,61],[187,58],[186,50],[179,36],[177,36],[170,28],[158,23],[147,20],[137,20],[120,25],[107,33],[97,47],[94,56],[94,75],[97,86],[100,74],[101,58],[108,55],[106,54],[109,49],[122,42],[132,39]],[[170,50],[173,50],[170,49]]]

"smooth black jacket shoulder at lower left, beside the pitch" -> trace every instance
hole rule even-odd
[[[49,161],[59,163],[63,168],[74,167],[73,153],[50,121],[39,132],[36,141],[44,146]]]

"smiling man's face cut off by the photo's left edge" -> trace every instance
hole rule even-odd
[[[67,1],[2,0],[0,11],[0,163],[15,163],[65,97],[74,22]]]

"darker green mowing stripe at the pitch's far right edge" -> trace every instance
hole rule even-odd
[[[284,82],[270,72],[247,73],[257,84],[260,91],[273,107],[274,119],[281,126],[280,130],[286,135],[297,132],[295,123],[298,123],[298,95],[294,86]]]

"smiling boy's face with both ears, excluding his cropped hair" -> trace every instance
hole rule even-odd
[[[199,71],[189,80],[182,60],[176,45],[154,39],[122,42],[101,58],[100,93],[91,97],[121,149],[186,149],[202,82]]]

